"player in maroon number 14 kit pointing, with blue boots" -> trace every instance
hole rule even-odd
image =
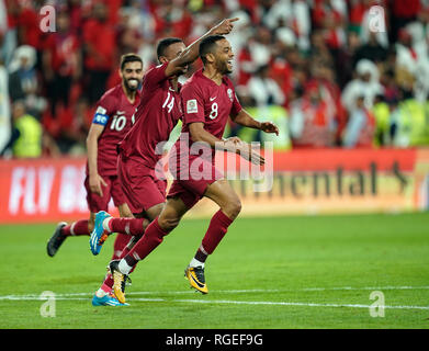
[[[183,116],[181,84],[178,78],[188,70],[188,65],[199,57],[202,39],[214,34],[228,34],[237,20],[222,21],[188,47],[179,38],[165,38],[158,43],[157,56],[160,65],[145,75],[142,101],[136,112],[137,122],[118,145],[117,169],[122,189],[136,211],[135,217],[144,214],[146,218],[127,220],[129,218],[113,218],[106,212],[98,213],[90,239],[93,254],[100,252],[103,238],[111,233],[135,236],[136,242],[149,222],[163,208],[167,182],[156,174],[156,165],[162,157],[157,145],[169,139],[171,131]],[[131,246],[127,246],[122,257],[129,250]],[[113,279],[108,274],[95,296],[109,294],[112,286]],[[124,284],[121,284],[120,288],[123,293]]]

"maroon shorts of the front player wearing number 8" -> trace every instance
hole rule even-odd
[[[224,174],[211,161],[201,158],[190,159],[189,165],[184,166],[178,162],[177,168],[170,168],[170,170],[176,177],[167,199],[179,197],[188,208],[193,207],[203,197],[207,185],[224,178]]]

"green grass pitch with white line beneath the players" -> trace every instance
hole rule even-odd
[[[93,307],[113,238],[46,254],[50,225],[0,226],[0,328],[428,328],[429,213],[239,217],[206,262],[207,295],[183,270],[208,219],[183,219],[131,275],[127,307]],[[43,317],[43,292],[55,317]],[[373,291],[384,316],[372,317]],[[382,309],[373,309],[383,312]],[[53,312],[53,309],[50,309]]]

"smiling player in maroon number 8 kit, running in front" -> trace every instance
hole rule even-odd
[[[123,303],[125,296],[121,285],[127,274],[138,261],[146,258],[162,242],[163,237],[178,226],[181,217],[202,196],[211,199],[221,208],[212,217],[195,257],[185,269],[185,276],[192,287],[204,294],[208,292],[204,278],[205,260],[208,254],[214,252],[241,208],[238,195],[214,166],[214,150],[222,145],[224,149],[238,152],[241,156],[250,156],[255,163],[263,165],[264,162],[262,157],[252,151],[249,144],[241,143],[237,138],[222,139],[227,118],[232,116],[234,122],[242,126],[279,134],[274,124],[259,123],[241,109],[234,86],[227,77],[233,69],[234,53],[224,36],[214,35],[204,38],[200,45],[200,57],[204,68],[196,71],[184,83],[181,91],[184,106],[182,135],[189,133],[191,143],[203,143],[210,149],[211,157],[192,155],[194,152],[191,152],[191,147],[183,148],[181,145],[182,138],[176,143],[176,148],[180,149],[178,152],[180,157],[176,155],[178,161],[173,173],[179,178],[171,185],[165,208],[158,218],[150,223],[145,235],[133,249],[123,259],[112,260],[110,263],[114,280],[114,293],[117,299]],[[183,154],[188,158],[187,160],[183,159]],[[203,150],[203,155],[207,154]],[[207,170],[204,172],[204,177],[200,177],[201,174],[193,177],[192,169],[197,168],[192,167],[194,162]],[[189,177],[181,179],[180,174],[189,174]]]

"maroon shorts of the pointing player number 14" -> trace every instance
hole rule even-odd
[[[120,156],[117,176],[134,214],[166,202],[167,181],[158,179],[153,169]]]

